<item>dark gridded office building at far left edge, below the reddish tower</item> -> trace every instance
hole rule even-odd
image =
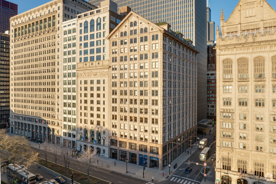
[[[0,33],[0,128],[7,128],[10,111],[10,35]]]

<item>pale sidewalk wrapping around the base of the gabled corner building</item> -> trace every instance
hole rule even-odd
[[[207,127],[208,128],[208,127]],[[207,130],[206,128],[206,132],[209,131],[209,129]],[[215,127],[210,127],[211,129],[213,128],[213,130],[211,130],[211,134],[214,132],[214,128]],[[10,136],[13,136],[13,134],[8,133]],[[209,137],[209,135],[206,135],[206,138]],[[201,138],[201,137],[199,137]],[[205,138],[205,137],[204,137]],[[37,148],[37,149],[41,149],[44,150],[44,144],[48,144],[47,149],[50,148],[50,143],[41,143],[40,144],[40,148],[39,148],[39,144],[35,143],[35,142],[31,142],[29,141],[30,146],[33,148]],[[192,154],[198,149],[198,144],[199,141],[195,142],[195,144],[193,145],[193,149],[192,149]],[[51,151],[51,150],[49,150]],[[178,156],[174,161],[171,162],[171,174],[174,173],[174,171],[176,171],[178,169],[178,167],[180,167],[182,165],[183,162],[185,162],[190,156],[190,151],[191,148],[188,148],[187,151],[189,151],[188,153],[182,153],[180,156]],[[53,151],[51,151],[53,152]],[[61,155],[61,151],[58,152],[59,155]],[[80,159],[76,159],[76,158],[71,158],[73,160],[77,160],[80,161]],[[99,164],[97,164],[97,160],[99,160]],[[93,163],[93,161],[95,161]],[[166,178],[168,178],[169,175],[169,166],[164,166],[162,171],[159,171],[158,168],[156,167],[146,167],[145,171],[144,171],[144,178],[143,178],[143,166],[140,165],[136,165],[136,164],[132,164],[132,163],[128,163],[127,164],[127,171],[128,173],[126,174],[126,163],[124,161],[119,161],[119,160],[115,160],[112,158],[106,158],[106,157],[102,157],[102,156],[97,156],[93,159],[91,159],[91,165],[97,166],[97,167],[102,167],[104,169],[107,170],[111,170],[111,171],[115,171],[115,172],[119,172],[125,175],[129,175],[132,177],[136,177],[136,178],[140,178],[146,181],[151,181],[151,178],[154,178],[154,181],[165,181]],[[116,162],[116,166],[114,166],[114,162]],[[173,169],[173,166],[177,163],[177,168]],[[109,167],[107,167],[109,166]],[[164,172],[164,177],[163,177],[163,172]]]

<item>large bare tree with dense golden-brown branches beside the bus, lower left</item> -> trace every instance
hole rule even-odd
[[[25,137],[14,135],[10,137],[6,130],[0,130],[0,156],[1,164],[16,162],[18,165],[29,167],[37,160],[38,153],[32,151]]]

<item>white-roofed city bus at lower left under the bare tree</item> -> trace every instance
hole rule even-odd
[[[18,183],[36,183],[35,175],[24,168],[16,164],[9,164],[7,166],[8,175],[15,175],[18,177]]]

